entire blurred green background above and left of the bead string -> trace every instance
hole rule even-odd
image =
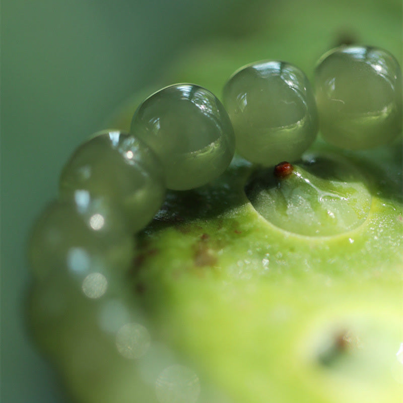
[[[213,83],[217,88],[209,89],[216,91],[242,63],[266,57],[295,63],[311,77],[317,57],[355,32],[362,34],[358,40],[387,45],[401,61],[401,27],[399,0],[3,0],[3,403],[63,401],[24,328],[25,245],[33,220],[56,196],[64,162],[117,105],[164,75],[197,78],[197,84]],[[255,30],[264,34],[253,38]],[[197,47],[218,37],[216,47]],[[187,58],[180,57],[185,53]],[[197,69],[199,61],[210,70]]]

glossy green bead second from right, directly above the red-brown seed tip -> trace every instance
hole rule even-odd
[[[266,60],[245,66],[228,80],[224,105],[235,130],[237,151],[264,166],[297,160],[315,140],[316,105],[305,74]]]

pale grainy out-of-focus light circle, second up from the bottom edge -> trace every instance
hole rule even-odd
[[[116,347],[125,358],[144,356],[151,344],[148,330],[139,323],[126,323],[116,334]]]

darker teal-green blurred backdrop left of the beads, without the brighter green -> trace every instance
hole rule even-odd
[[[242,1],[3,0],[1,400],[63,401],[24,329],[25,244],[73,149],[169,60],[225,31]]]

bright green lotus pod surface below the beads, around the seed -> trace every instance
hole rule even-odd
[[[171,194],[140,237],[133,288],[144,290],[161,340],[234,401],[393,401],[401,389],[391,373],[401,339],[399,190],[393,195],[381,170],[364,172],[388,189],[371,189],[367,219],[333,237],[306,237],[254,210],[243,192],[251,171],[236,160],[216,186]],[[364,347],[321,364],[321,343],[343,332]]]

